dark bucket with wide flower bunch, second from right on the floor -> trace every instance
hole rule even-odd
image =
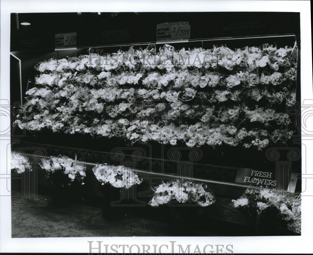
[[[214,195],[206,185],[177,179],[155,187],[149,204],[162,208],[168,216],[169,229],[182,234],[194,227],[199,211],[214,202]]]

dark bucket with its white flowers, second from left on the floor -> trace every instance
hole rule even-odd
[[[75,159],[66,156],[42,159],[40,166],[50,181],[54,205],[73,205],[82,200],[86,166],[76,155]]]

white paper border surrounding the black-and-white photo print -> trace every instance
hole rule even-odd
[[[313,99],[312,94],[312,45],[310,1],[1,1],[1,82],[0,99],[10,98],[10,13],[48,12],[300,12],[301,34],[301,101]],[[312,119],[312,118],[311,118]],[[8,126],[9,118],[0,116],[0,125]],[[308,125],[313,129],[313,120]],[[8,140],[0,139],[0,149],[6,151]],[[309,138],[307,138],[309,139]],[[313,174],[313,138],[302,141],[302,173]],[[0,153],[0,171],[6,173],[6,153]],[[307,157],[305,155],[308,155]],[[203,247],[208,244],[233,245],[235,253],[311,253],[313,229],[313,179],[306,181],[307,194],[302,197],[301,236],[275,237],[60,237],[60,238],[11,238],[11,198],[1,196],[6,190],[0,179],[0,252],[89,252],[87,241],[102,241],[104,244],[191,244]],[[9,183],[9,182],[8,182]],[[2,185],[1,185],[2,184]],[[305,181],[303,181],[305,187]],[[310,190],[309,190],[310,188]],[[225,229],[225,233],[227,230]],[[194,249],[191,248],[193,251]],[[95,252],[95,251],[93,251]],[[127,252],[127,249],[126,249]],[[153,253],[153,251],[150,251]],[[163,246],[162,252],[171,251]]]

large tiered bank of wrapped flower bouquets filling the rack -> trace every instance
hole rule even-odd
[[[35,85],[26,91],[25,112],[15,123],[31,131],[120,137],[131,143],[182,141],[263,150],[285,144],[295,130],[279,110],[295,104],[292,50],[272,45],[175,50],[165,45],[158,53],[147,47],[50,59],[36,66]],[[241,123],[249,126],[243,131]],[[225,126],[236,130],[229,133]]]

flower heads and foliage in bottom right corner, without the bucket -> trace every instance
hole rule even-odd
[[[260,224],[260,217],[266,213],[266,210],[277,208],[279,218],[287,225],[287,229],[301,233],[300,195],[296,196],[287,192],[277,193],[268,188],[247,189],[243,196],[232,202],[235,208],[248,214],[256,226]]]

